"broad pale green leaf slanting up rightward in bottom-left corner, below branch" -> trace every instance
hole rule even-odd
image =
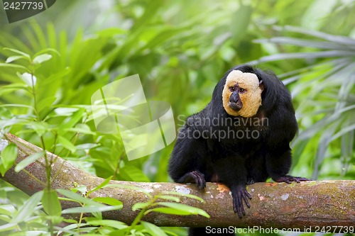
[[[18,209],[18,212],[15,213],[15,215],[11,220],[11,223],[20,223],[21,221],[25,220],[28,216],[30,216],[35,210],[35,207],[40,202],[40,199],[42,199],[42,196],[43,196],[43,191],[39,191],[33,194],[30,198],[28,198],[27,201],[23,203],[23,206],[21,206]]]

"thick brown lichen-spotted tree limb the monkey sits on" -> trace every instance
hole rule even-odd
[[[39,152],[40,148],[20,138],[6,134],[6,139],[18,146],[18,158],[16,163],[28,157],[33,152]],[[0,142],[0,152],[9,143],[6,140]],[[81,169],[73,167],[64,159],[50,154],[55,163],[53,164],[53,175],[58,176],[53,182],[54,189],[70,189],[75,183],[85,185],[88,189],[104,181],[97,176],[92,176]],[[27,172],[41,181],[45,181],[44,159],[26,168]],[[29,195],[43,189],[43,185],[34,181],[25,172],[14,172],[10,169],[5,176],[1,177],[13,186]],[[251,208],[246,209],[246,216],[239,219],[234,214],[231,196],[227,189],[221,184],[208,183],[204,191],[200,191],[193,184],[172,184],[172,183],[138,183],[128,181],[111,181],[111,184],[124,184],[136,186],[151,194],[159,194],[163,191],[178,191],[191,193],[204,198],[206,203],[200,203],[195,199],[182,198],[182,203],[206,210],[211,218],[204,218],[200,215],[177,216],[149,213],[143,218],[148,222],[159,226],[206,226],[215,227],[261,227],[276,228],[305,228],[323,226],[354,226],[355,225],[355,181],[305,181],[300,184],[274,184],[258,183],[248,186],[248,191],[253,196],[250,201]],[[124,203],[124,208],[103,213],[104,218],[121,220],[131,223],[136,217],[137,211],[133,212],[131,207],[134,203],[145,202],[147,197],[144,193],[133,189],[105,188],[92,193],[90,197],[110,196],[117,198]],[[74,203],[63,201],[62,208],[70,208]]]

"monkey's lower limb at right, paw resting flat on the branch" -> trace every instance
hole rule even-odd
[[[291,184],[292,181],[308,181],[311,179],[287,175],[291,167],[290,147],[279,148],[274,152],[266,154],[266,169],[269,176],[276,182],[285,182]]]

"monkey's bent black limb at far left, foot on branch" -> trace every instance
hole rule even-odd
[[[208,157],[204,140],[193,137],[187,125],[179,131],[170,157],[168,172],[178,183],[195,183],[200,189],[206,186],[204,159]]]

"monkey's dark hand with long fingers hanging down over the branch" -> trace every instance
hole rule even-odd
[[[231,188],[231,196],[233,197],[234,213],[238,213],[239,218],[242,218],[243,215],[245,215],[243,201],[246,203],[246,206],[250,208],[248,198],[251,199],[251,195],[246,191],[246,186],[237,185]]]

